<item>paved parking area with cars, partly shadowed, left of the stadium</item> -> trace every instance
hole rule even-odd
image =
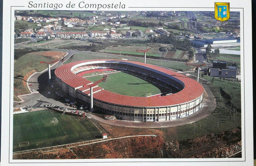
[[[45,76],[47,72],[48,71],[42,73],[40,77]],[[89,110],[87,110],[87,105],[72,101],[66,96],[65,92],[61,92],[55,82],[54,77],[51,79],[50,82],[48,82],[47,79],[42,79],[39,77],[38,83],[35,81],[35,77],[37,77],[37,74],[35,74],[35,76],[31,78],[31,82],[33,83],[30,83],[30,86],[34,88],[32,89],[33,93],[22,96],[24,102],[14,102],[14,109],[21,108],[22,110],[30,111],[36,108],[47,107],[78,115],[85,115],[85,113],[90,112]],[[34,91],[36,91],[37,93],[35,93]]]

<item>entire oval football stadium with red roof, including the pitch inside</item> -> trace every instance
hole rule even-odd
[[[203,102],[199,82],[172,70],[127,60],[85,60],[55,70],[72,100],[120,120],[160,122],[188,117]]]

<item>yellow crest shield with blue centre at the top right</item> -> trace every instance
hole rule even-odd
[[[220,21],[229,19],[229,3],[215,3],[215,18]]]

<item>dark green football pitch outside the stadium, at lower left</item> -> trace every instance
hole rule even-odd
[[[13,151],[94,140],[98,128],[86,118],[51,110],[13,115]]]

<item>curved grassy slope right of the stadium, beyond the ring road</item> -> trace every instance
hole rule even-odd
[[[233,82],[237,84],[238,82]],[[209,134],[209,133],[219,133],[231,130],[235,127],[241,126],[241,113],[233,112],[230,110],[230,107],[225,104],[224,98],[220,94],[220,89],[218,86],[227,84],[231,85],[232,82],[225,82],[225,80],[217,80],[215,79],[213,83],[208,84],[212,93],[216,96],[217,106],[214,110],[210,110],[210,116],[201,119],[195,123],[186,124],[182,126],[177,126],[173,128],[162,128],[161,130],[165,131],[165,137],[169,141],[182,141],[187,139],[194,139],[196,137]],[[233,91],[233,94],[239,91],[238,85],[234,85],[237,89]],[[232,89],[234,86],[231,86]],[[240,93],[236,94],[237,96]],[[237,98],[241,100],[241,97]],[[241,101],[236,101],[236,106],[241,104]],[[233,103],[233,102],[232,102]],[[240,105],[241,106],[241,105]],[[174,132],[175,131],[175,132]]]

